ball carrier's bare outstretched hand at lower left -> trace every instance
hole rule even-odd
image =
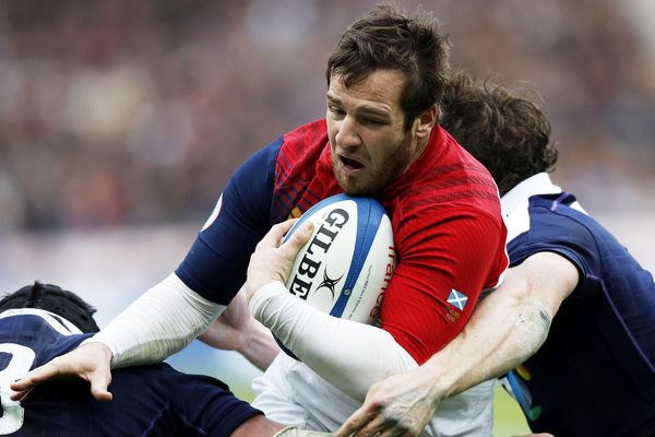
[[[111,351],[105,344],[92,342],[83,344],[68,354],[58,356],[35,368],[11,385],[13,401],[24,401],[29,391],[39,382],[51,378],[76,376],[91,382],[91,394],[98,401],[110,401],[107,390],[111,382]]]

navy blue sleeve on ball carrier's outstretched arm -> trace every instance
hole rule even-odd
[[[251,253],[271,227],[275,161],[282,137],[233,175],[216,208],[176,270],[195,293],[227,305],[246,281]]]

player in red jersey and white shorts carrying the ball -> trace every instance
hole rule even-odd
[[[110,368],[157,362],[184,347],[241,287],[269,229],[340,192],[373,197],[392,218],[398,263],[379,327],[320,317],[289,299],[279,282],[250,290],[255,317],[301,358],[275,358],[257,381],[255,405],[281,422],[336,429],[371,383],[422,364],[464,328],[508,262],[491,176],[438,123],[448,51],[426,12],[376,7],[355,22],[327,61],[325,119],[251,156],[175,273],[79,350],[13,388],[75,374],[91,380],[96,398],[109,400]],[[251,283],[272,279],[251,273]],[[289,328],[301,320],[312,324]],[[462,393],[444,402],[426,432],[488,435],[491,401],[489,385]]]

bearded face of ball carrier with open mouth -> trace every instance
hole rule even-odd
[[[405,131],[400,98],[404,74],[378,70],[346,87],[333,75],[327,90],[327,134],[336,180],[345,193],[371,196],[396,180],[420,155],[415,122]]]

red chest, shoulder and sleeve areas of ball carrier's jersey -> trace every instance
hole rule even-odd
[[[299,216],[341,192],[324,119],[283,138],[272,216]],[[508,265],[507,231],[487,169],[440,127],[421,156],[378,198],[393,225],[397,267],[380,323],[422,364],[464,327]]]

